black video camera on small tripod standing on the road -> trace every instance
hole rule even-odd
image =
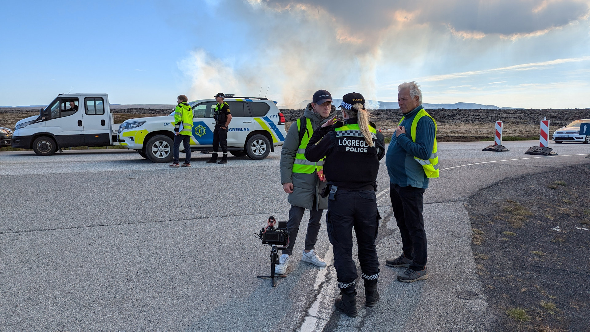
[[[275,275],[274,266],[279,263],[278,261],[278,249],[286,249],[289,246],[289,235],[290,232],[287,230],[287,222],[278,222],[274,217],[268,218],[268,226],[260,230],[258,234],[254,233],[254,236],[262,240],[262,244],[270,246],[270,275],[259,275],[258,278],[270,278],[273,282],[273,287],[276,287],[274,278],[284,278],[286,275]]]

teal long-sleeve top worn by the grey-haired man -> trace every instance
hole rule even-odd
[[[428,116],[422,116],[416,128],[416,142],[412,142],[410,135],[412,121],[421,109],[422,105],[404,115],[405,119],[401,126],[405,127],[406,134],[396,137],[394,133],[385,155],[389,181],[400,187],[411,185],[415,188],[428,188],[428,177],[424,173],[424,168],[414,157],[422,160],[428,160],[430,157],[436,135],[434,121]]]

